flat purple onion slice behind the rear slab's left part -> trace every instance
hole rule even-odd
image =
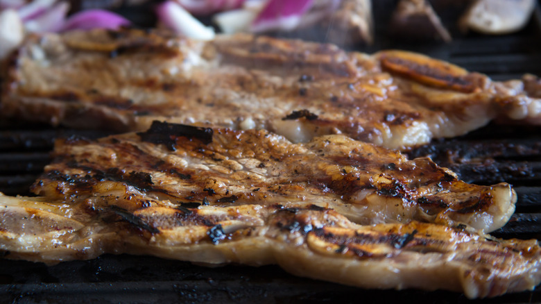
[[[69,17],[61,31],[74,29],[89,30],[92,28],[117,29],[121,26],[128,26],[128,19],[110,12],[108,10],[83,10]]]

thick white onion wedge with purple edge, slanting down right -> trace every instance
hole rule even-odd
[[[180,35],[200,40],[214,38],[214,29],[207,27],[175,1],[165,1],[156,8],[160,21]]]

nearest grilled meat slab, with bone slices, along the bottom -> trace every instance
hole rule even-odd
[[[346,285],[447,289],[470,298],[533,289],[541,280],[535,240],[504,241],[418,221],[360,226],[304,202],[183,208],[152,201],[127,210],[104,201],[0,196],[0,207],[0,251],[8,258],[55,263],[132,253],[280,264],[298,276]]]

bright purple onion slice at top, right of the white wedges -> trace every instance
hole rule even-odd
[[[313,3],[314,0],[270,0],[257,15],[250,31],[291,31]]]

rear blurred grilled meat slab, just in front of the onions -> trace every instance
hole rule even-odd
[[[523,81],[403,51],[373,56],[252,35],[199,42],[137,30],[30,37],[3,71],[6,117],[119,131],[154,120],[267,129],[293,142],[342,133],[391,149],[497,117],[539,124]]]

